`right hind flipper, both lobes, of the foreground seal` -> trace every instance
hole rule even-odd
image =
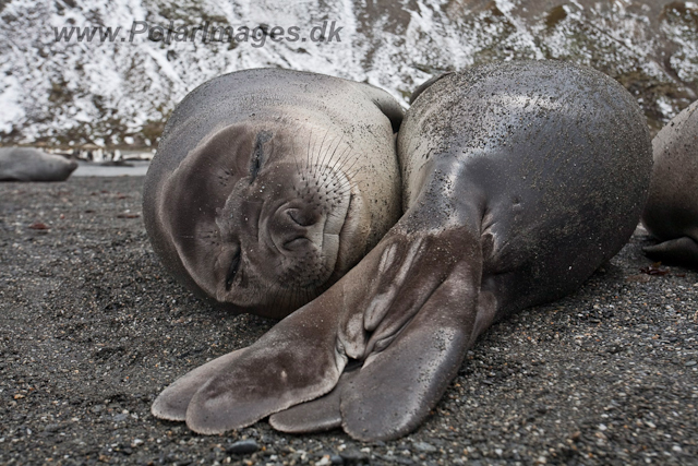
[[[423,421],[455,377],[466,349],[490,326],[496,311],[492,292],[481,290],[479,243],[458,235],[473,247],[449,264],[447,244],[453,244],[453,237],[448,241],[448,236],[443,234],[437,241],[412,238],[401,244],[386,241],[376,248],[383,251],[370,261],[377,265],[372,276],[384,279],[372,287],[369,295],[374,298],[358,307],[370,333],[361,345],[362,368],[342,374],[328,395],[274,415],[272,427],[313,432],[338,427],[341,419],[352,438],[375,441],[398,438]],[[436,263],[440,268],[434,268]],[[446,276],[436,274],[437,283],[420,287],[443,268]],[[432,273],[425,276],[428,270]],[[425,299],[417,299],[424,295]]]

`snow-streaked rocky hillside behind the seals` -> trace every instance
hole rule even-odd
[[[189,91],[252,67],[407,105],[445,70],[565,59],[623,83],[654,131],[698,95],[698,4],[683,1],[0,0],[0,17],[2,144],[154,146]]]

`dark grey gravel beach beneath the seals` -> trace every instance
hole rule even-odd
[[[492,328],[400,440],[153,418],[161,389],[273,322],[165,273],[142,182],[0,183],[0,464],[698,464],[698,273],[651,267],[641,230],[574,296]]]

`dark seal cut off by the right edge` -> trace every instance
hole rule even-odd
[[[654,166],[642,224],[663,242],[645,248],[645,253],[698,267],[698,100],[662,128],[652,146]]]

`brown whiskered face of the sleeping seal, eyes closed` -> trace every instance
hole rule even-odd
[[[163,184],[165,265],[221,304],[286,315],[373,246],[354,162],[327,129],[248,121],[213,132]]]

